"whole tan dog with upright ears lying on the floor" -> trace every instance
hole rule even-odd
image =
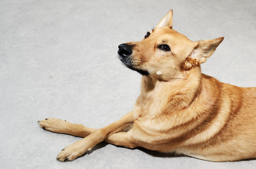
[[[120,60],[141,73],[134,110],[101,129],[49,118],[45,130],[85,137],[59,161],[73,161],[100,142],[185,154],[206,161],[256,158],[256,88],[235,87],[201,73],[223,37],[192,42],[173,30],[169,11],[141,42],[120,44]]]

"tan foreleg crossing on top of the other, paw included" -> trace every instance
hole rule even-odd
[[[129,124],[133,123],[134,116],[133,113],[127,113],[120,120],[117,120],[115,123],[107,125],[101,129],[95,130],[89,134],[84,139],[67,146],[63,149],[57,156],[59,161],[73,161],[78,156],[82,156],[86,151],[90,151],[93,146],[103,142],[107,137],[110,137],[112,134],[125,130]]]

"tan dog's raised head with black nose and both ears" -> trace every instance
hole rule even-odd
[[[142,41],[120,44],[118,54],[124,65],[141,75],[161,80],[180,79],[185,71],[204,63],[222,40],[223,37],[190,41],[173,30],[173,11],[170,10]]]

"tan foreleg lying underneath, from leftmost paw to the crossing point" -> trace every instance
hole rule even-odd
[[[45,120],[40,120],[37,123],[44,130],[62,134],[70,134],[77,137],[86,137],[88,134],[91,134],[96,130],[83,125],[69,123],[66,120],[57,118],[45,118]]]

